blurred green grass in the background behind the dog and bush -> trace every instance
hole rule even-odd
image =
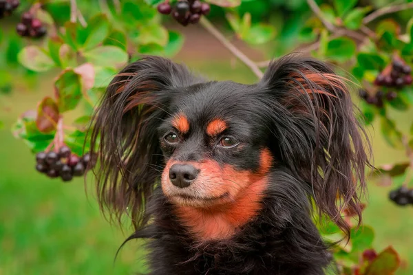
[[[190,65],[218,80],[224,77],[243,83],[254,80],[248,69],[240,66],[233,69],[212,61],[192,61]],[[63,184],[39,175],[34,170],[34,155],[21,140],[12,137],[9,129],[17,115],[34,108],[41,94],[51,93],[47,79],[30,89],[17,81],[14,93],[0,98],[3,107],[11,107],[6,115],[0,113],[0,120],[6,124],[0,130],[0,275],[145,272],[142,243],[138,241],[125,245],[113,264],[118,246],[130,232],[123,234],[103,219],[94,196],[85,195],[83,179]],[[403,129],[412,122],[411,112],[392,113],[392,116]],[[405,159],[403,151],[393,150],[383,142],[379,131],[372,133],[376,164]],[[410,249],[413,208],[399,208],[388,201],[388,191],[394,187],[370,184],[369,188],[365,223],[376,230],[375,248],[381,250],[393,245],[405,263],[413,263]],[[405,267],[397,274],[412,272],[412,268]]]

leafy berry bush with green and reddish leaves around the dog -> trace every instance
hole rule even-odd
[[[0,8],[3,2],[0,1]],[[1,29],[1,93],[12,90],[15,76],[26,76],[30,81],[38,74],[49,72],[55,75],[50,96],[39,100],[34,111],[21,115],[12,130],[14,135],[21,138],[33,153],[59,150],[64,144],[76,155],[89,151],[87,125],[100,96],[118,69],[135,61],[139,54],[174,56],[182,47],[182,34],[165,28],[173,19],[156,10],[156,5],[161,2],[91,0],[78,1],[76,5],[76,1],[33,1],[14,11],[8,19],[10,22],[18,18],[17,12],[25,11],[21,24],[25,24],[27,18],[24,18],[29,14],[39,19],[47,35],[31,32],[40,28],[34,23],[25,24],[26,27],[19,25],[18,32],[25,38]],[[170,2],[171,5],[176,3]],[[383,1],[367,4],[363,1],[358,4],[357,0],[205,2],[211,4],[211,13],[209,19],[201,17],[200,25],[248,66],[257,78],[262,76],[268,61],[251,61],[211,21],[219,23],[226,31],[231,30],[236,39],[251,47],[259,47],[268,57],[285,54],[295,45],[301,45],[296,50],[327,58],[338,65],[337,70],[343,76],[348,77],[346,72],[351,72],[354,83],[360,85],[361,120],[366,124],[379,120],[381,133],[389,146],[405,151],[409,159],[380,167],[380,173],[374,173],[374,177],[394,181],[400,186],[410,183],[413,125],[410,133],[403,133],[390,113],[391,109],[405,111],[413,104],[410,68],[413,62],[413,19],[409,15],[413,3],[387,5]],[[377,2],[385,6],[376,6]],[[399,12],[397,17],[394,12]],[[10,12],[0,13],[10,15]],[[6,66],[8,69],[4,69]],[[65,114],[72,110],[82,115],[72,126],[65,125]],[[398,189],[392,193],[392,200],[401,205],[413,203],[413,195],[401,203],[401,190],[406,194],[410,192],[406,188]],[[343,214],[353,225],[354,213],[343,210]],[[399,256],[392,247],[381,252],[372,250],[374,230],[368,225],[363,225],[360,230],[353,226],[352,237],[346,242],[340,241],[343,234],[331,221],[319,219],[317,224],[327,240],[339,242],[333,252],[342,274],[392,274],[398,269]]]

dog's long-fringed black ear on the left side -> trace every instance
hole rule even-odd
[[[156,133],[177,88],[199,83],[186,67],[146,56],[110,83],[92,124],[98,200],[111,219],[128,210],[136,228],[147,222],[145,204],[164,166]]]

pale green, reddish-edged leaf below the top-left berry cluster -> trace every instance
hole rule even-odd
[[[52,58],[37,46],[24,47],[17,58],[21,65],[34,72],[46,72],[54,67]]]

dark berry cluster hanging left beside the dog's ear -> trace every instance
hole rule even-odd
[[[47,177],[61,177],[63,181],[70,181],[74,176],[81,176],[94,166],[89,153],[78,157],[72,154],[70,148],[63,146],[59,153],[54,151],[41,152],[36,155],[36,170],[45,173]]]

